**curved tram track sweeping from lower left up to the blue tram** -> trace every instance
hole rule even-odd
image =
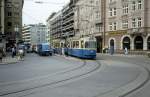
[[[44,88],[44,87],[50,87],[52,85],[57,85],[57,84],[60,84],[60,83],[64,83],[64,82],[67,82],[69,80],[74,80],[74,79],[77,79],[77,78],[80,78],[82,76],[85,76],[85,75],[88,75],[96,70],[98,70],[100,67],[101,67],[101,63],[99,61],[92,61],[92,62],[95,62],[95,66],[92,66],[93,64],[87,64],[87,61],[86,60],[82,60],[83,61],[83,65],[81,65],[80,67],[78,68],[74,68],[74,69],[71,69],[71,70],[68,70],[68,71],[64,71],[62,72],[60,75],[58,75],[57,77],[62,77],[62,79],[57,79],[55,81],[51,81],[51,79],[48,79],[46,80],[45,83],[41,83],[41,84],[37,84],[37,85],[33,85],[33,86],[30,86],[30,87],[22,87],[21,89],[9,89],[6,88],[6,90],[4,90],[3,92],[0,93],[0,97],[2,96],[10,96],[10,95],[14,95],[14,94],[20,94],[20,93],[23,93],[23,92],[26,92],[26,91],[30,91],[30,90],[35,90],[35,89],[40,89],[40,88]],[[83,69],[83,70],[82,70]],[[84,69],[87,69],[84,70]],[[81,72],[82,71],[82,72]],[[77,72],[81,72],[80,74],[76,74]],[[65,74],[69,75],[69,77],[64,77]],[[71,75],[71,74],[74,74],[74,75]],[[41,79],[43,80],[43,79]],[[49,81],[49,82],[47,82]],[[33,83],[32,81],[30,82],[30,84]],[[17,83],[16,83],[17,84]],[[26,85],[28,83],[24,83],[24,85]],[[12,85],[13,86],[13,85]],[[17,86],[17,85],[16,85]]]

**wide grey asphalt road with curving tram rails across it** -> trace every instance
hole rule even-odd
[[[29,54],[25,61],[0,65],[0,97],[105,97],[121,87],[128,91],[136,82],[143,84],[147,77],[142,61],[149,62],[141,57],[98,55],[96,61],[83,61]]]

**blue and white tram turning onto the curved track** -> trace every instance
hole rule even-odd
[[[80,40],[72,40],[70,48],[67,49],[68,55],[85,59],[96,58],[96,39],[82,38]]]

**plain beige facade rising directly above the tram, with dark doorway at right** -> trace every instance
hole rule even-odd
[[[103,21],[102,0],[79,0],[76,3],[74,28],[75,37],[96,37],[97,52],[102,52]]]

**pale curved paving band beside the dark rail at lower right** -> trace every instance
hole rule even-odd
[[[95,97],[124,97],[140,89],[148,82],[150,77],[150,72],[146,67],[142,67],[142,66],[138,66],[138,67],[141,69],[141,74],[134,81],[120,88],[106,92],[104,94],[99,94]]]

